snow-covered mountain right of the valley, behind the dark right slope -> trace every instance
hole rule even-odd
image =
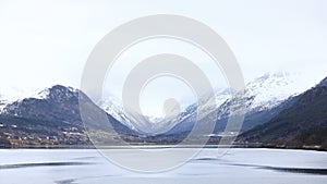
[[[245,90],[242,94],[237,94],[234,98],[231,97],[230,90],[226,89],[225,93],[218,93],[216,95],[216,105],[219,105],[218,111],[215,111],[215,103],[213,99],[207,99],[206,108],[202,112],[204,116],[218,113],[217,125],[215,132],[222,132],[227,120],[230,114],[230,106],[238,105],[244,108],[244,123],[243,131],[254,127],[255,125],[265,123],[279,113],[284,108],[288,108],[292,100],[284,102],[287,99],[296,96],[305,90],[305,88],[299,87],[296,82],[298,75],[291,75],[288,73],[268,73],[250,82],[245,86]],[[222,90],[223,91],[223,90]],[[220,102],[220,103],[219,103]],[[194,124],[194,116],[196,114],[196,106],[191,106],[190,114],[185,115],[184,120],[169,132],[169,134],[190,131]]]

